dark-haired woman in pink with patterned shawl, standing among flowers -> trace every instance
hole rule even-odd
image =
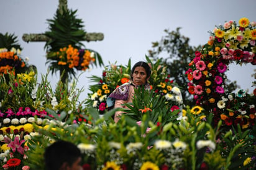
[[[134,96],[134,88],[144,85],[145,89],[150,90],[150,85],[147,83],[151,75],[149,64],[139,61],[134,64],[130,74],[130,81],[124,83],[114,90],[107,98],[107,106],[114,108],[127,108],[122,106],[124,103],[131,103]],[[122,115],[122,111],[117,111],[114,116],[114,121],[118,122]]]

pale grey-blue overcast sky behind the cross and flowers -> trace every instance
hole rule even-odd
[[[0,32],[14,33],[22,46],[22,57],[29,57],[29,64],[37,67],[39,74],[47,72],[43,42],[25,43],[24,33],[43,33],[47,31],[47,19],[53,19],[58,0],[0,0]],[[104,33],[104,40],[85,42],[86,48],[98,51],[104,64],[109,62],[126,65],[129,58],[132,65],[145,61],[145,55],[152,49],[153,41],[165,35],[163,30],[176,30],[190,38],[191,46],[204,45],[209,38],[209,30],[215,25],[229,20],[247,17],[256,21],[255,0],[69,0],[69,9],[78,9],[77,17],[82,19],[86,32]],[[232,64],[227,77],[237,80],[244,89],[250,88],[252,64],[236,66]],[[101,75],[103,68],[86,71],[79,79],[78,87],[88,88],[90,75]],[[58,75],[58,74],[57,74]],[[58,80],[49,76],[52,86]],[[39,76],[40,80],[40,76]],[[83,96],[87,96],[85,90]],[[81,97],[81,96],[80,96]]]

